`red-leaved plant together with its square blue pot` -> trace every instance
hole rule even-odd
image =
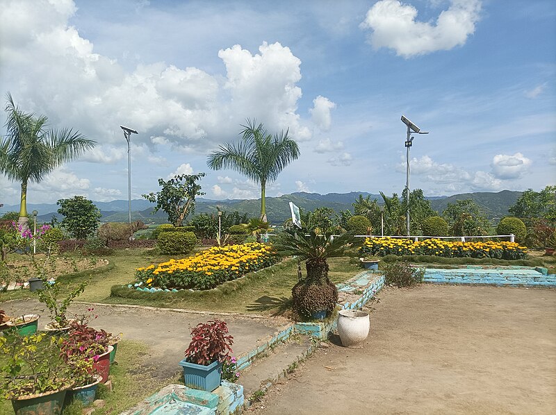
[[[191,343],[186,349],[183,378],[187,387],[212,392],[220,386],[222,362],[228,359],[234,337],[225,321],[218,319],[199,323],[191,330]]]

